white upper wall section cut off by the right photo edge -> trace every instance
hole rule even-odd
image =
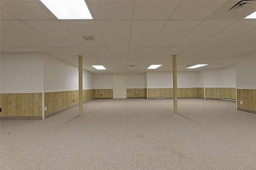
[[[237,88],[256,88],[256,52],[236,57]]]

